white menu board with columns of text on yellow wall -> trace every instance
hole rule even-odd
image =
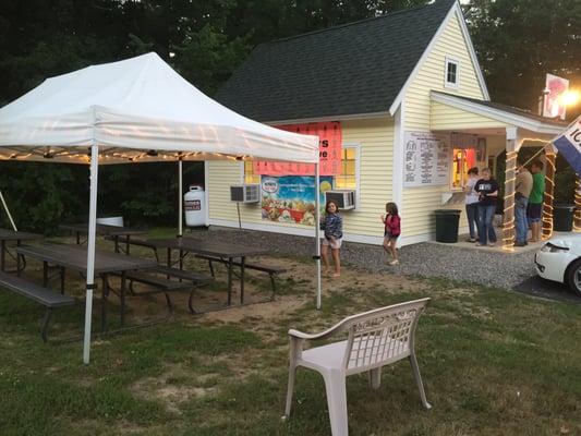
[[[431,186],[450,182],[450,135],[406,132],[403,186]]]

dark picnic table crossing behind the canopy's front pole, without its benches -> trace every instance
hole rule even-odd
[[[81,272],[86,277],[87,272],[87,250],[81,245],[71,244],[40,244],[36,246],[17,246],[15,249],[17,261],[21,256],[27,256],[43,263],[43,286],[47,287],[49,277],[49,265],[56,265],[60,270],[61,293],[64,292],[65,270]],[[19,265],[20,266],[20,265]],[[124,323],[125,315],[125,274],[137,269],[155,268],[157,262],[109,252],[95,252],[95,275],[101,278],[101,331],[106,329],[107,318],[107,296],[110,291],[109,275],[118,274],[121,276],[121,325]],[[20,275],[20,267],[19,267]]]

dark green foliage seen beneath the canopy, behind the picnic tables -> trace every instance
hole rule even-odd
[[[0,190],[16,226],[55,234],[63,222],[83,222],[88,215],[88,168],[81,165],[2,162]],[[204,181],[202,162],[184,162],[184,192]],[[125,218],[131,226],[178,222],[175,162],[102,166],[97,211]],[[9,226],[0,209],[0,227]]]

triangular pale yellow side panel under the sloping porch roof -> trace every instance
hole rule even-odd
[[[464,130],[464,129],[496,129],[506,128],[507,124],[483,116],[452,108],[437,101],[432,101],[429,125],[436,130]]]

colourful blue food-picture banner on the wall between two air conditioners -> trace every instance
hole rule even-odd
[[[312,175],[286,175],[261,178],[261,213],[268,221],[315,225],[315,178]],[[332,189],[332,178],[322,177],[319,184],[320,207],[325,192]]]

